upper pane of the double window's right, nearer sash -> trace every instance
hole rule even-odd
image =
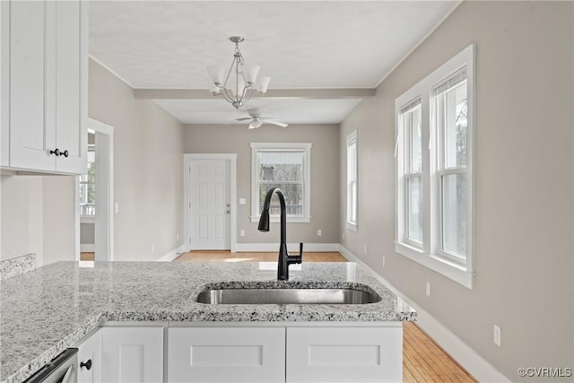
[[[466,166],[466,82],[444,93],[445,116],[445,166]]]

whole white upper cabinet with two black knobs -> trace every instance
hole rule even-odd
[[[88,4],[1,2],[4,168],[86,171]]]

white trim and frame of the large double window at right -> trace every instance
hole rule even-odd
[[[430,268],[448,278],[464,285],[469,289],[474,287],[474,109],[476,102],[475,91],[475,45],[463,49],[455,57],[448,60],[447,63],[441,65],[437,70],[429,74],[420,83],[417,83],[410,90],[404,92],[403,95],[395,100],[395,134],[396,134],[396,148],[401,150],[401,145],[404,145],[404,137],[400,133],[400,109],[410,101],[415,100],[417,97],[422,99],[422,188],[429,190],[423,192],[423,246],[422,248],[415,248],[406,241],[404,241],[404,159],[401,155],[396,156],[396,239],[395,249],[396,252],[408,257],[413,261]],[[467,171],[467,189],[468,189],[468,206],[467,206],[467,232],[466,232],[466,245],[467,254],[465,265],[460,265],[447,257],[441,257],[438,251],[438,235],[439,227],[437,222],[439,220],[437,204],[439,196],[437,196],[437,159],[431,158],[430,154],[430,140],[436,139],[430,136],[431,124],[431,92],[434,86],[449,74],[456,72],[459,68],[466,66],[467,77],[467,152],[466,152],[466,171]],[[431,205],[436,208],[431,208]]]

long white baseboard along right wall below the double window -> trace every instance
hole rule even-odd
[[[496,370],[488,361],[476,353],[465,344],[460,338],[453,334],[447,327],[441,325],[439,321],[431,316],[427,311],[421,309],[413,300],[404,296],[403,293],[387,282],[382,276],[375,273],[368,265],[352,254],[349,249],[340,245],[339,252],[347,260],[363,265],[373,273],[380,283],[383,283],[391,292],[395,292],[398,297],[406,301],[417,312],[417,325],[445,350],[455,361],[470,373],[474,379],[480,382],[509,382],[510,380]]]

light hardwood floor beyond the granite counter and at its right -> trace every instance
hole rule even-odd
[[[276,261],[277,253],[230,253],[229,251],[191,251],[175,262],[266,262]],[[337,252],[304,253],[303,262],[346,262]],[[411,322],[403,324],[403,381],[476,382],[468,372],[442,351],[421,328]]]

